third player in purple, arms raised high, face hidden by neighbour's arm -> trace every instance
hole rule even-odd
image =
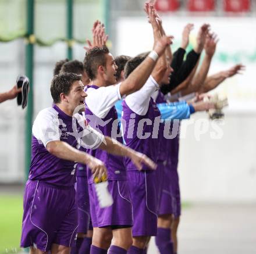
[[[146,8],[156,42],[161,38],[157,16],[152,5],[146,5]],[[136,59],[140,60],[140,57],[134,59],[135,65],[137,65]],[[126,145],[136,151],[143,151],[155,163],[158,160],[159,142],[148,133],[152,134],[154,128],[152,123],[160,117],[160,112],[151,95],[158,89],[158,84],[166,71],[170,74],[171,69],[163,54],[143,88],[126,96],[123,101],[122,120],[126,121],[126,126],[123,121],[122,124]],[[155,171],[150,171],[147,166],[143,167],[143,171],[136,171],[129,159],[126,159],[126,168],[134,215],[133,245],[129,253],[143,253],[150,236],[157,234],[157,174]]]

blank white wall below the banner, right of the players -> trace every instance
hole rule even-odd
[[[256,202],[255,116],[226,112],[219,139],[210,137],[212,128],[201,135],[195,135],[195,124],[186,128],[178,169],[184,200]],[[197,113],[191,120],[202,117],[206,114]]]

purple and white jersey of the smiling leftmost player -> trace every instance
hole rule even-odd
[[[104,140],[103,135],[86,125],[83,116],[68,116],[56,105],[38,113],[32,134],[29,179],[59,186],[72,186],[75,183],[77,163],[52,155],[46,149],[47,144],[63,141],[76,149],[81,145],[96,149]]]

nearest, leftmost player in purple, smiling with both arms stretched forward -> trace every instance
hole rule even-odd
[[[70,252],[77,230],[74,183],[76,163],[87,164],[95,177],[106,176],[101,160],[81,152],[80,146],[104,149],[132,158],[138,167],[152,162],[88,126],[77,108],[84,110],[84,85],[73,73],[55,76],[51,84],[54,106],[38,113],[33,124],[32,158],[24,191],[20,246],[30,253]]]

